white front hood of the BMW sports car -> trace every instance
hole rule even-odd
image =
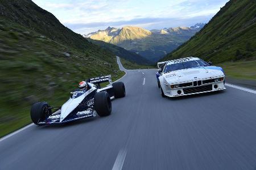
[[[207,66],[171,71],[170,73],[163,74],[162,76],[167,83],[175,84],[188,82],[191,80],[200,80],[213,78],[216,76],[224,76],[224,72],[221,67]]]

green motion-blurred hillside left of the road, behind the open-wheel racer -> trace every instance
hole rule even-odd
[[[112,52],[32,1],[2,0],[0,14],[0,137],[31,122],[32,103],[61,105],[81,80],[123,74]]]

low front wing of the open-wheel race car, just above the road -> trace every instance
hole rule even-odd
[[[93,111],[90,114],[85,114],[85,115],[80,115],[80,116],[75,116],[71,118],[65,118],[63,121],[60,122],[60,114],[56,114],[54,116],[59,116],[59,118],[47,118],[44,121],[39,121],[38,125],[49,125],[49,124],[64,124],[67,122],[75,121],[75,120],[80,120],[83,118],[89,118],[89,117],[95,117],[96,116],[96,111]]]

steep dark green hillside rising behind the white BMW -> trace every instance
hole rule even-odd
[[[214,63],[256,59],[256,1],[229,1],[200,32],[161,60],[187,56]]]

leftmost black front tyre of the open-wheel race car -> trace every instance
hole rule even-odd
[[[51,114],[51,107],[46,102],[37,102],[30,109],[31,120],[36,125],[40,125],[38,122],[44,120]]]

